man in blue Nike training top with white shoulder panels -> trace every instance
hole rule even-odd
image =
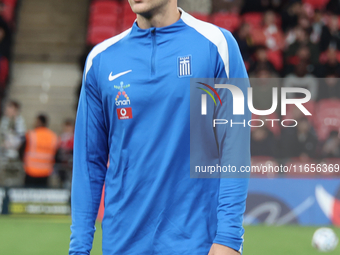
[[[104,255],[239,254],[248,180],[189,171],[190,78],[247,77],[237,43],[176,0],[129,3],[137,21],[96,46],[85,67],[69,254],[90,254],[104,182]],[[249,128],[228,132],[218,134],[221,163],[249,165]]]

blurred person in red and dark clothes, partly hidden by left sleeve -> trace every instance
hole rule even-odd
[[[74,122],[65,120],[63,123],[63,132],[60,135],[60,146],[57,153],[56,162],[57,172],[61,187],[71,187],[72,158],[73,158],[73,139],[74,139]]]

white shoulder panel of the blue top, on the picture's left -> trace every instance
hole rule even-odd
[[[96,58],[98,55],[100,55],[101,53],[105,52],[105,50],[107,50],[108,48],[112,47],[113,45],[115,45],[117,42],[121,41],[122,39],[124,39],[127,35],[130,34],[131,28],[122,32],[119,35],[116,35],[114,37],[111,37],[105,41],[103,41],[102,43],[99,43],[98,45],[96,45],[92,51],[90,52],[90,54],[87,56],[87,60],[86,60],[86,65],[85,65],[85,78],[87,73],[90,71],[92,65],[93,65],[93,60],[94,58]]]

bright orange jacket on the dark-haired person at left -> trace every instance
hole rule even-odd
[[[31,177],[48,177],[53,172],[58,149],[58,136],[46,127],[37,127],[26,134],[24,169]]]

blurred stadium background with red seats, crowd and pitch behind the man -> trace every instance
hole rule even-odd
[[[312,92],[306,105],[311,117],[288,109],[297,127],[252,129],[252,164],[339,166],[340,1],[178,2],[234,34],[256,78],[256,108],[270,108],[272,87]],[[134,20],[127,0],[0,0],[0,254],[67,254],[73,125],[85,59],[94,45]],[[44,116],[59,142],[56,147],[48,140],[50,158],[43,163],[53,171],[37,181],[27,167],[28,141],[34,139],[27,132]],[[317,254],[311,238],[319,226],[331,226],[340,236],[339,176],[253,175],[244,254]],[[101,254],[102,210],[92,254]]]

